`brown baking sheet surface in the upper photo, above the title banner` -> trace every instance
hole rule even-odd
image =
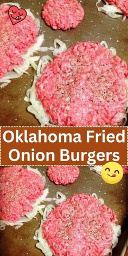
[[[0,3],[9,2],[0,0]],[[22,8],[30,8],[35,17],[40,17],[42,4],[46,0],[19,0]],[[40,18],[41,33],[44,32],[43,46],[53,46],[54,39],[60,39],[71,46],[80,41],[103,41],[109,47],[116,47],[118,55],[128,62],[128,18],[122,22],[121,18],[110,18],[95,7],[96,0],[82,0],[81,4],[85,9],[84,20],[75,29],[69,31],[53,30],[48,27]],[[40,56],[48,53],[40,53]],[[50,54],[50,52],[49,52]],[[51,55],[52,56],[52,55]],[[25,92],[32,85],[34,71],[28,70],[29,75],[24,74],[19,79],[12,80],[4,89],[0,90],[1,98],[1,126],[35,126],[40,125],[33,114],[27,112],[29,103],[24,101]]]

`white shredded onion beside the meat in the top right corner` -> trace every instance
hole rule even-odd
[[[104,6],[99,7],[99,4],[103,3],[103,2],[105,2]],[[125,21],[125,19],[126,19],[126,16],[123,14],[123,12],[118,7],[116,7],[116,5],[110,5],[110,4],[108,4],[108,2],[106,0],[97,0],[96,7],[97,7],[98,11],[104,12],[111,18],[118,18],[118,17],[123,16],[123,21]]]

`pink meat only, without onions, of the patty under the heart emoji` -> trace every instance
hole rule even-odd
[[[29,15],[12,25],[8,9],[8,5],[0,5],[0,78],[12,71],[13,66],[23,64],[22,55],[36,43],[39,30]]]

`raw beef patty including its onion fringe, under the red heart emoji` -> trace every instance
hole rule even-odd
[[[30,64],[36,69],[34,61],[37,61],[39,56],[32,57],[31,55],[40,49],[43,42],[43,34],[38,36],[39,19],[36,19],[30,10],[27,10],[25,20],[12,25],[8,15],[9,5],[11,3],[0,5],[1,87],[8,85],[9,79],[20,77]],[[19,4],[16,6],[20,8]]]

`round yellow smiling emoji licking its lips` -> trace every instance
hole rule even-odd
[[[101,170],[103,180],[109,184],[116,184],[123,178],[123,168],[116,162],[109,162]]]

